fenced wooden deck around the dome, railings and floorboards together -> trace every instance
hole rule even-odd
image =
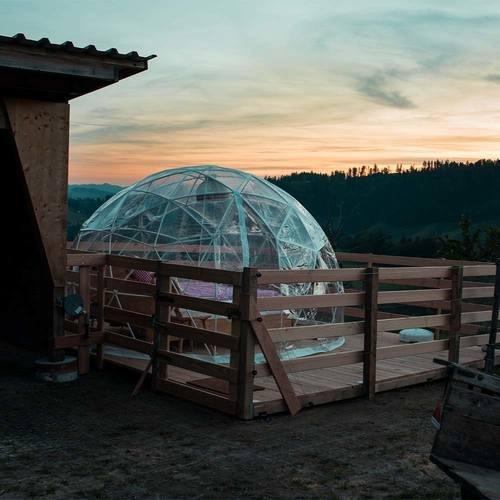
[[[349,258],[359,263],[362,256],[344,255]],[[107,359],[142,373],[152,353],[155,390],[242,419],[287,410],[295,415],[305,407],[358,396],[373,399],[377,392],[442,378],[446,370],[433,363],[436,357],[483,364],[481,346],[493,324],[492,298],[500,293],[500,280],[494,287],[493,278],[500,276],[500,266],[373,255],[364,259],[366,267],[361,262],[362,267],[328,270],[228,271],[116,255],[68,255],[68,265],[78,267],[68,270],[68,286],[78,287],[96,325],[86,332],[83,321],[68,318],[68,335],[56,339],[56,346],[78,348],[81,374],[89,370],[91,345],[96,346],[98,366]],[[105,274],[106,266],[113,268],[112,276]],[[115,274],[117,268],[154,273],[156,284],[116,277],[121,276]],[[184,295],[176,285],[179,279],[231,286],[232,300]],[[346,293],[258,294],[276,284],[339,281]],[[117,294],[123,302],[110,303]],[[277,313],[293,318],[290,311],[331,308],[341,308],[343,321],[270,323]],[[203,322],[197,319],[200,314],[216,321]],[[127,326],[125,332],[110,331],[118,325]],[[432,329],[436,340],[399,342],[396,332],[416,327]],[[298,347],[336,337],[346,343],[334,352],[298,359],[278,356],[282,342]],[[219,354],[229,355],[230,364],[215,364],[170,345],[181,341],[217,346]],[[108,346],[132,354],[111,355]],[[266,362],[255,364],[256,353]]]

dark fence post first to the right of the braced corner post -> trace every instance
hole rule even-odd
[[[366,269],[365,281],[365,335],[363,350],[363,387],[369,399],[375,397],[377,379],[377,299],[378,267]]]

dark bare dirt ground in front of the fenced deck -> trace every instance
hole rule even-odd
[[[36,382],[0,347],[4,498],[458,498],[429,462],[442,383],[241,422],[93,371]],[[22,361],[22,362],[21,362]]]

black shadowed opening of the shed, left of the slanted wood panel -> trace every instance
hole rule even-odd
[[[52,280],[14,138],[5,129],[0,130],[0,154],[4,247],[0,336],[45,351],[51,328]]]

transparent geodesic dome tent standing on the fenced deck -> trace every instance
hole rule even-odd
[[[82,226],[74,247],[166,262],[241,270],[337,268],[312,215],[264,179],[213,165],[164,170],[104,203]],[[182,292],[231,297],[224,285],[179,283]],[[341,283],[271,285],[259,295],[342,292]],[[287,311],[297,320],[336,320],[335,309]]]

